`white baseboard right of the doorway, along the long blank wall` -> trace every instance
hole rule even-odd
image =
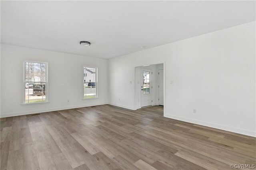
[[[256,132],[247,131],[247,130],[244,130],[244,129],[237,129],[237,128],[234,128],[234,127],[228,127],[228,126],[224,126],[224,125],[217,125],[217,124],[214,124],[214,123],[208,123],[208,122],[204,122],[204,121],[198,121],[198,120],[194,120],[194,119],[188,119],[188,118],[178,117],[178,116],[168,115],[168,114],[164,115],[164,117],[168,117],[168,118],[176,119],[176,120],[180,120],[180,121],[186,121],[186,122],[189,122],[189,123],[195,123],[195,124],[198,124],[198,125],[212,127],[212,128],[216,128],[216,129],[220,129],[220,130],[224,130],[224,131],[240,133],[242,135],[248,135],[248,136],[256,137]]]

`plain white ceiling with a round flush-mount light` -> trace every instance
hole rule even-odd
[[[1,0],[1,43],[109,59],[255,21],[255,15],[255,1]]]

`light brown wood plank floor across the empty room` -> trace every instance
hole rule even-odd
[[[256,139],[101,105],[1,119],[1,170],[224,170],[255,164]]]

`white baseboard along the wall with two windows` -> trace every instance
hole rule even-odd
[[[0,118],[3,117],[11,117],[11,116],[20,116],[20,115],[29,115],[34,113],[44,113],[48,111],[58,111],[58,110],[65,110],[65,109],[75,109],[80,107],[90,107],[90,106],[98,106],[108,104],[105,103],[98,103],[98,104],[85,104],[85,105],[78,105],[78,106],[68,106],[68,107],[58,107],[58,108],[51,108],[51,109],[42,109],[42,110],[31,110],[31,111],[23,111],[23,112],[16,112],[16,113],[7,113],[7,114],[0,114]]]

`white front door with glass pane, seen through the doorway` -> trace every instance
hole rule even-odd
[[[151,74],[152,70],[141,68],[141,107],[152,105]]]

